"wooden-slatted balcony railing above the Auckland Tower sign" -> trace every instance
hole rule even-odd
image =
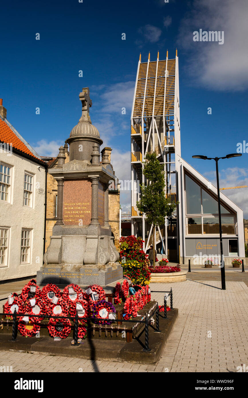
[[[186,235],[219,235],[219,224],[187,224]],[[222,224],[223,235],[237,235],[236,224]]]

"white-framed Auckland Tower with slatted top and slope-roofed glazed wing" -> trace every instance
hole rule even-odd
[[[165,224],[156,228],[158,254],[170,261],[204,264],[206,258],[220,263],[217,188],[181,157],[178,57],[147,62],[139,59],[131,113],[131,234],[141,236],[144,250],[152,244],[152,228],[136,203],[147,152],[157,153],[164,166],[166,197],[179,201]],[[226,265],[245,260],[243,211],[222,192],[221,219]]]

